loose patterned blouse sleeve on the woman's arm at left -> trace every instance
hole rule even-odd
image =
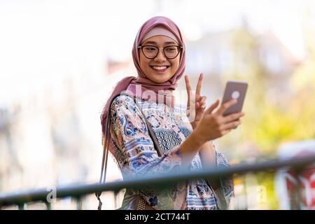
[[[146,174],[161,174],[174,172],[181,167],[179,146],[158,157],[153,141],[141,111],[134,99],[128,96],[119,96],[111,104],[111,125],[113,127],[114,144],[122,156],[123,175],[146,176]],[[115,142],[116,141],[116,142]],[[139,193],[155,209],[174,209],[176,192],[182,186],[172,189],[158,190],[154,186],[141,189]]]

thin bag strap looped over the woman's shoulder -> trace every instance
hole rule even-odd
[[[155,150],[158,153],[158,156],[161,157],[163,155],[163,151],[162,148],[160,147],[160,144],[158,143],[158,139],[155,137],[155,134],[153,132],[153,129],[151,127],[151,124],[148,122],[148,120],[146,119],[146,116],[144,115],[144,112],[142,111],[141,106],[139,105],[139,103],[137,102],[136,97],[127,94],[125,92],[117,94],[115,97],[113,97],[113,99],[115,99],[116,97],[118,97],[119,95],[127,95],[129,97],[132,97],[132,99],[134,99],[134,103],[138,106],[139,111],[141,112],[142,117],[144,118],[144,122],[146,123],[146,127],[148,127],[148,133],[153,141],[153,145]],[[111,101],[111,103],[113,102],[113,99]],[[111,105],[111,104],[109,104]],[[102,169],[101,169],[101,176],[99,178],[99,183],[105,183],[106,181],[106,169],[107,169],[107,160],[109,157],[109,141],[110,139],[109,137],[109,127],[111,124],[111,109],[109,109],[109,113],[107,114],[107,120],[106,120],[106,129],[105,129],[105,134],[104,137],[102,139],[102,144],[103,144],[103,158],[102,158]],[[98,210],[102,209],[102,201],[100,196],[102,195],[102,191],[101,192],[97,192],[95,193],[97,200],[99,200],[99,206],[97,207]]]

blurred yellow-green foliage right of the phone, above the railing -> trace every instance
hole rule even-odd
[[[314,31],[307,34],[313,36]],[[274,158],[276,148],[283,142],[315,138],[315,43],[307,43],[309,57],[290,76],[290,91],[277,95],[270,93],[267,85],[274,75],[258,57],[261,46],[257,40],[246,27],[235,31],[231,39],[235,66],[225,73],[224,79],[248,82],[244,136],[239,139],[258,146],[260,155]]]

